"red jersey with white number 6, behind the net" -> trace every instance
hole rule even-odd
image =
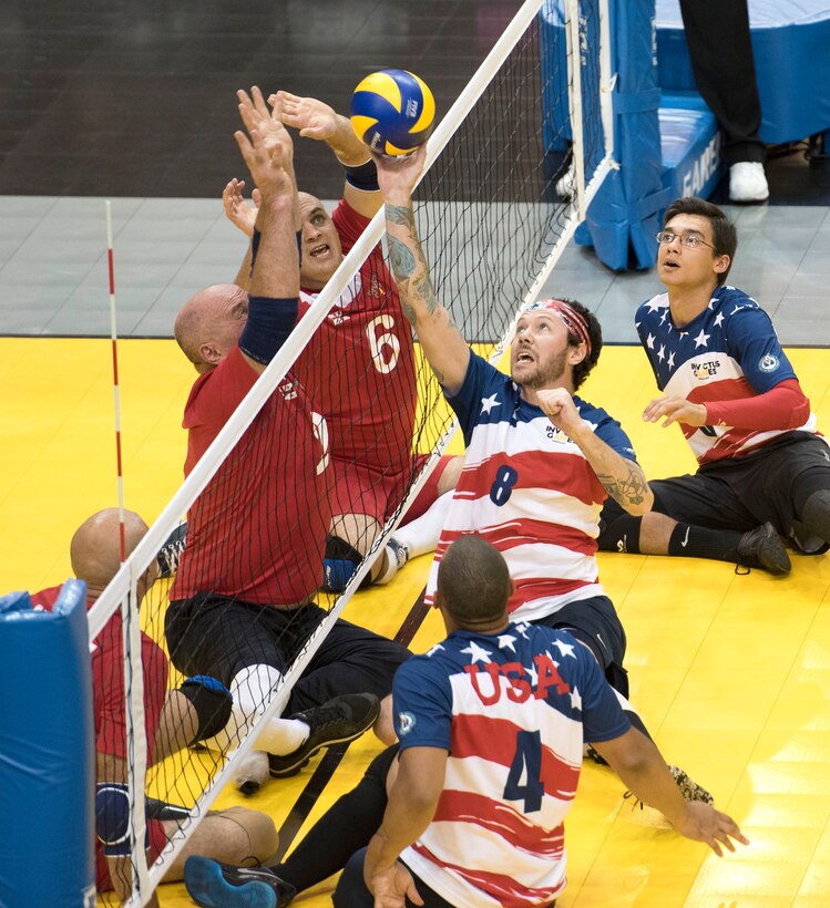
[[[331,219],[344,252],[369,224],[345,200]],[[300,317],[318,296],[300,291]],[[383,473],[411,467],[418,402],[412,331],[379,245],[300,353],[296,369],[326,417],[332,457]]]

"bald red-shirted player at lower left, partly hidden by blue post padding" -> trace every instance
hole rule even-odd
[[[147,532],[142,518],[124,513],[125,553],[129,555]],[[86,584],[91,608],[121,567],[120,515],[109,508],[85,520],[72,537],[72,570]],[[155,578],[155,565],[139,580],[137,599]],[[52,609],[60,587],[32,596],[35,608]],[[141,634],[144,678],[144,729],[147,764],[164,760],[181,747],[215,734],[230,715],[230,697],[215,679],[187,679],[180,689],[167,690],[167,657],[147,634]],[[95,884],[99,891],[115,889],[121,899],[130,895],[130,798],[127,734],[124,706],[124,657],[121,611],[116,611],[94,639],[91,653],[95,722],[98,781]],[[147,799],[147,859],[152,863],[178,829],[177,816],[187,811]],[[212,811],[188,838],[164,875],[165,881],[182,879],[189,855],[217,860],[238,859],[242,866],[258,866],[277,848],[274,822],[259,811],[230,807]],[[230,857],[234,855],[235,857]]]

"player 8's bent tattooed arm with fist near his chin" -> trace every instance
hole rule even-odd
[[[654,493],[646,482],[643,468],[596,436],[594,430],[580,416],[573,398],[564,388],[541,389],[533,402],[542,407],[556,429],[561,429],[580,446],[596,473],[596,478],[621,507],[635,517],[648,514],[654,504]]]

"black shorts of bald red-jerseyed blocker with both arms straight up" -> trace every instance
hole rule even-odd
[[[164,630],[181,672],[209,674],[228,687],[249,665],[285,672],[326,613],[314,603],[278,609],[208,594],[171,602]],[[409,656],[400,643],[338,619],[295,684],[286,713],[344,693],[383,698]]]

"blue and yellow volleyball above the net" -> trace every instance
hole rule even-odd
[[[367,75],[351,96],[351,127],[372,152],[404,155],[422,145],[436,118],[427,83],[407,70]]]

